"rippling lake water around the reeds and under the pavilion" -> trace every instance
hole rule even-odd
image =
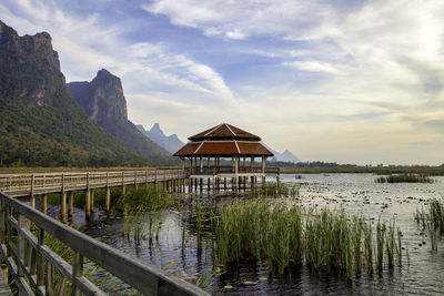
[[[444,196],[444,177],[435,177],[436,183],[376,184],[372,174],[303,174],[282,175],[282,182],[302,183],[297,203],[304,207],[344,208],[351,214],[363,214],[376,222],[395,218],[396,226],[404,234],[403,242],[410,252],[410,265],[404,255],[403,267],[384,272],[382,276],[370,277],[365,273],[351,280],[344,275],[314,272],[302,266],[279,276],[269,273],[261,262],[242,263],[236,268],[228,268],[214,278],[212,294],[226,295],[442,295],[444,293],[444,244],[438,252],[431,249],[428,238],[414,221],[416,208],[427,205],[433,197]],[[218,203],[231,197],[218,197]],[[161,222],[158,239],[142,239],[135,244],[122,236],[123,220],[111,220],[97,213],[95,223],[85,232],[118,249],[144,262],[171,272],[180,272],[199,277],[213,266],[209,239],[204,239],[202,252],[196,249],[196,233],[190,223],[191,204],[180,210],[150,213],[154,225]],[[81,221],[81,212],[74,217]],[[148,216],[145,221],[148,221]],[[182,229],[185,228],[186,247],[182,249]],[[205,237],[209,237],[206,234]],[[250,282],[250,283],[249,283]],[[224,289],[226,286],[232,289]]]

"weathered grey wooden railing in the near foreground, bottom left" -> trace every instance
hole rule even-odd
[[[23,182],[24,185],[29,183]],[[46,233],[73,249],[72,265],[44,244]],[[0,251],[21,295],[67,295],[70,289],[72,295],[103,295],[100,288],[84,277],[84,258],[145,295],[209,295],[199,287],[131,258],[2,192]],[[57,275],[54,269],[58,271]]]

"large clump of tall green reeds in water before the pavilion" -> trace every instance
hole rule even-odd
[[[350,278],[363,268],[373,274],[374,262],[382,273],[384,257],[389,268],[394,266],[394,222],[389,226],[379,222],[374,242],[371,222],[347,216],[343,210],[302,210],[285,203],[250,200],[221,205],[216,212],[213,232],[221,265],[265,261],[270,269],[283,274],[287,267],[305,263]],[[401,244],[401,237],[397,243]]]

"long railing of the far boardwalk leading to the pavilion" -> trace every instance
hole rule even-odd
[[[155,183],[183,177],[183,169],[88,173],[0,174],[0,190],[8,193],[10,196],[19,197],[62,191]]]

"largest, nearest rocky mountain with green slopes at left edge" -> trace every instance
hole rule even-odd
[[[0,165],[151,163],[89,120],[48,33],[19,37],[0,21]]]

